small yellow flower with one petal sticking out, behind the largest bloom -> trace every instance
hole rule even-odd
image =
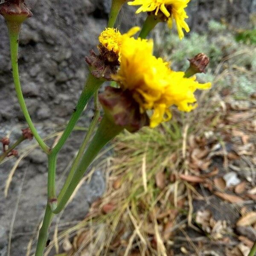
[[[120,49],[124,38],[129,38],[140,31],[140,27],[133,27],[127,33],[121,34],[118,29],[106,28],[99,36],[99,42],[109,52],[114,52],[120,61]]]

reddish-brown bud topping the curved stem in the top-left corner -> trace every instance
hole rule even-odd
[[[24,0],[6,0],[0,4],[0,14],[7,22],[21,24],[32,16],[32,12],[26,7]]]

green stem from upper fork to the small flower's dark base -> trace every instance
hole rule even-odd
[[[99,89],[103,82],[103,80],[97,79],[95,76],[89,73],[87,81],[81,92],[81,96],[76,104],[76,108],[74,109],[73,114],[70,118],[70,121],[68,122],[67,127],[65,128],[60,140],[52,149],[51,154],[57,154],[58,151],[61,150],[67,138],[70,136],[70,133],[73,131],[76,122],[78,121],[79,117],[81,116],[81,113],[84,110],[85,105],[96,92],[96,90]]]

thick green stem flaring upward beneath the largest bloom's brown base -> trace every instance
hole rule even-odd
[[[121,126],[114,125],[106,117],[103,117],[101,123],[99,124],[99,128],[96,131],[96,134],[94,135],[93,140],[88,145],[87,150],[84,152],[81,162],[79,163],[79,166],[77,167],[76,171],[74,172],[74,175],[73,175],[72,179],[70,180],[70,183],[67,186],[67,189],[66,189],[64,195],[62,196],[62,198],[58,198],[58,206],[55,209],[55,211],[53,211],[54,213],[61,212],[61,210],[65,207],[67,201],[73,194],[74,190],[76,189],[76,186],[78,185],[79,181],[83,177],[87,168],[90,166],[90,163],[93,161],[93,159],[99,153],[99,151],[110,140],[112,140],[114,137],[116,137],[116,135],[119,134],[120,131],[122,131],[122,130],[123,130],[123,128]]]

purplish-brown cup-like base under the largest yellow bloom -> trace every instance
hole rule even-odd
[[[99,94],[99,102],[102,104],[105,116],[111,122],[130,132],[149,125],[147,114],[140,113],[139,104],[128,90],[123,91],[120,88],[108,86],[103,93]]]

